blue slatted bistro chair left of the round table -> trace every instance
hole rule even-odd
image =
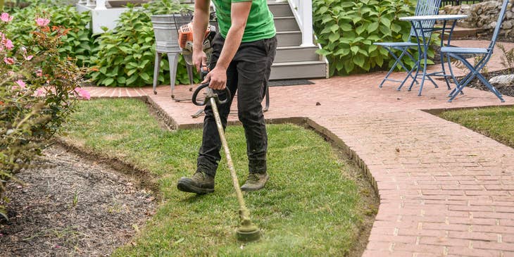
[[[439,13],[440,5],[441,5],[441,0],[419,0],[418,4],[416,4],[415,15],[416,16],[418,16],[418,15],[437,15],[437,13]],[[420,29],[418,29],[416,31],[415,27],[411,27],[410,37],[415,37],[418,40],[420,40],[419,37],[425,37],[425,38],[430,39],[430,37],[432,36],[432,30],[434,27],[434,23],[435,23],[434,20],[423,21],[422,22],[422,27],[424,28],[423,32],[421,32]],[[423,35],[421,35],[421,34],[423,34]],[[400,86],[398,87],[398,90],[400,90],[401,87],[403,87],[403,84],[407,81],[407,79],[409,77],[412,77],[413,83],[416,82],[416,84],[418,84],[418,81],[415,80],[415,77],[413,76],[412,73],[415,70],[415,68],[417,68],[420,65],[420,60],[416,61],[415,58],[408,52],[409,49],[417,48],[419,46],[418,42],[376,42],[376,43],[373,43],[377,46],[384,47],[384,49],[386,49],[389,52],[389,54],[391,54],[391,56],[393,56],[393,58],[395,60],[394,65],[392,66],[391,70],[389,70],[387,75],[384,77],[384,80],[382,80],[379,87],[382,87],[384,82],[389,80],[389,81],[394,81],[394,82],[401,82]],[[401,51],[400,56],[396,56],[396,54],[394,54],[394,50]],[[410,60],[412,60],[415,63],[415,65],[413,66],[412,69],[409,70],[408,68],[406,68],[405,64],[403,64],[403,62],[401,61],[403,56],[408,56],[408,58],[410,58]],[[403,68],[403,70],[406,70],[408,72],[404,80],[389,79],[389,75],[391,75],[391,73],[393,72],[394,68],[396,68],[397,65],[401,65],[401,68]],[[412,84],[411,84],[411,87],[412,87]],[[437,87],[437,84],[436,84],[436,87]]]

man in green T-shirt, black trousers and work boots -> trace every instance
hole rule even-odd
[[[277,48],[275,23],[267,0],[213,0],[213,3],[220,31],[213,40],[210,72],[203,82],[210,81],[209,87],[216,90],[228,87],[232,96],[238,91],[238,116],[243,123],[249,160],[249,176],[241,189],[255,191],[263,188],[269,179],[266,170],[268,135],[261,102]],[[193,61],[197,70],[206,63],[202,42],[209,7],[210,0],[196,0],[194,4]],[[220,98],[224,99],[222,93]],[[230,104],[218,106],[223,128],[227,126]],[[183,192],[214,192],[221,142],[210,106],[206,106],[205,113],[196,173],[190,178],[182,177],[177,184]]]

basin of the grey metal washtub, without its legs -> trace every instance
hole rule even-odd
[[[175,16],[180,17],[180,14],[151,15],[156,51],[159,53],[180,52]]]

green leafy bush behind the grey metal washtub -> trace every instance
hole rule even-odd
[[[94,58],[92,80],[108,87],[142,87],[153,82],[155,39],[150,16],[153,14],[177,13],[178,1],[161,0],[144,4],[142,9],[129,8],[122,13],[115,32],[108,31],[99,36],[99,53]],[[161,61],[158,81],[170,82],[168,59]],[[196,79],[196,81],[198,81]],[[176,84],[189,84],[185,62],[180,56]]]

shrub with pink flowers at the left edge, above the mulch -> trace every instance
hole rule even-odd
[[[69,32],[49,27],[37,17],[27,45],[4,33],[13,17],[0,15],[0,196],[5,183],[41,154],[49,139],[73,111],[77,98],[89,99],[78,87],[84,70],[59,53],[61,38]],[[14,20],[15,21],[15,20]],[[4,214],[0,199],[0,214]],[[4,214],[5,215],[5,214]]]

